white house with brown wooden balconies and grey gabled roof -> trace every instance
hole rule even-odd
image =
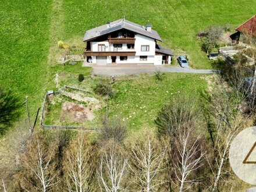
[[[146,27],[125,19],[86,31],[87,62],[106,64],[170,64],[173,55],[157,44],[162,41],[152,25]]]

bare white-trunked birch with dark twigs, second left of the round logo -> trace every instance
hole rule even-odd
[[[183,127],[177,131],[175,142],[175,152],[173,155],[173,167],[179,191],[191,189],[194,184],[200,182],[200,177],[191,176],[203,163],[205,155],[200,136],[193,136],[194,127]]]

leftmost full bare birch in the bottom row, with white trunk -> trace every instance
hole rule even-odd
[[[36,133],[27,143],[26,151],[20,156],[22,166],[21,185],[26,190],[51,191],[58,180],[54,162],[55,144],[48,143],[45,136]]]

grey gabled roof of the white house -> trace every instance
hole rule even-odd
[[[109,23],[109,27],[108,24],[104,24],[103,26],[95,27],[93,29],[86,31],[86,34],[84,35],[84,41],[89,41],[93,38],[100,37],[101,35],[109,34],[113,31],[118,31],[120,29],[130,30],[138,34],[154,38],[155,40],[162,41],[157,31],[147,31],[144,26],[141,26],[133,22],[129,22],[125,19],[119,19],[115,22],[111,22]]]

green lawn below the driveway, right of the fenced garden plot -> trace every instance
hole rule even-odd
[[[129,129],[155,127],[154,120],[163,105],[173,97],[188,95],[200,98],[200,91],[207,88],[207,75],[168,73],[162,81],[153,74],[117,79],[113,88],[116,97],[109,103],[111,116],[120,116]]]

